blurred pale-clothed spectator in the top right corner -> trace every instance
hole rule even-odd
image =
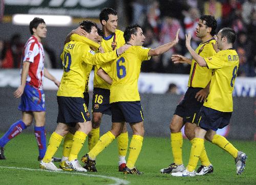
[[[242,18],[246,25],[250,24],[250,17],[256,10],[256,0],[247,0],[242,5]]]

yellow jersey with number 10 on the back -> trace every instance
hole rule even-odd
[[[108,53],[95,53],[88,44],[73,41],[65,44],[60,56],[64,72],[57,96],[81,97],[87,89],[87,75],[91,66],[109,62],[117,58],[116,51]]]

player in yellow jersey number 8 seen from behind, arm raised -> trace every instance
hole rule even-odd
[[[210,93],[200,109],[199,126],[195,130],[195,138],[191,146],[188,166],[182,172],[172,173],[173,176],[195,176],[198,158],[204,148],[204,137],[228,151],[236,162],[237,174],[244,171],[246,154],[238,151],[225,137],[217,135],[216,131],[229,124],[233,111],[232,91],[237,77],[239,57],[234,50],[236,32],[231,28],[223,28],[217,35],[217,45],[220,50],[212,57],[199,56],[190,46],[191,34],[186,35],[186,47],[200,66],[214,70],[211,78]],[[203,77],[202,77],[203,78]],[[224,141],[225,140],[225,141]]]

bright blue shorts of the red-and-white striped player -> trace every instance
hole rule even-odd
[[[18,109],[21,111],[46,111],[44,90],[39,90],[26,83]]]

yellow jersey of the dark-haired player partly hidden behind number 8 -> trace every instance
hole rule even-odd
[[[214,47],[212,47],[212,43],[216,43],[214,38],[204,43],[200,43],[197,49],[195,50],[196,53],[199,54],[201,57],[210,57],[216,55],[216,51],[214,50]],[[211,70],[209,70],[207,67],[201,67],[193,59],[191,62],[187,86],[205,88],[211,79],[211,73]]]

